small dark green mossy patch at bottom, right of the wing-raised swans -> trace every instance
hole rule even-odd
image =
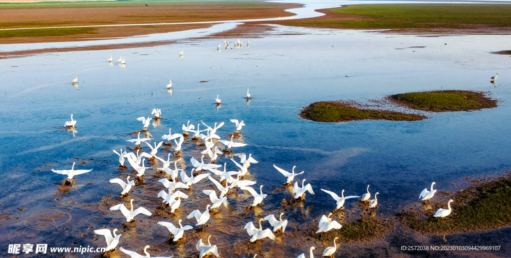
[[[360,218],[352,223],[343,224],[338,230],[331,230],[324,233],[316,233],[317,226],[311,227],[306,234],[319,241],[331,242],[335,238],[339,238],[341,243],[351,243],[354,241],[370,241],[382,238],[387,230],[394,223],[388,220],[379,220],[375,218]]]

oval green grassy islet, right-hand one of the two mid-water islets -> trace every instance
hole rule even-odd
[[[497,101],[487,98],[484,92],[469,90],[436,90],[409,92],[389,97],[399,105],[431,112],[472,111],[497,106]]]

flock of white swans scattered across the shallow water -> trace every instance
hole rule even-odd
[[[248,45],[247,41],[247,45]],[[243,41],[237,40],[235,42],[236,45],[243,44]],[[225,47],[229,45],[228,41],[224,42]],[[220,48],[220,44],[218,46]],[[179,56],[182,57],[183,52],[179,54]],[[112,61],[113,56],[108,59],[108,62]],[[121,57],[122,58],[122,57]],[[124,63],[125,58],[121,60],[119,59],[119,63]],[[496,78],[497,76],[495,76]],[[75,77],[73,80],[73,83],[76,83],[78,76]],[[172,80],[170,80],[170,84],[167,85],[167,88],[172,87]],[[247,95],[246,99],[250,99],[250,93],[247,89]],[[219,99],[219,95],[217,95],[216,103],[220,104],[221,100]],[[147,128],[150,125],[150,121],[152,119],[159,120],[161,119],[161,110],[154,108],[151,112],[151,115],[154,115],[153,118],[151,116],[148,116],[145,118],[144,116],[137,118],[137,121],[142,122],[143,125],[143,131],[146,131]],[[163,187],[168,191],[161,190],[158,195],[155,198],[161,198],[162,203],[164,203],[166,206],[169,207],[170,213],[174,213],[175,210],[179,209],[179,206],[181,205],[181,201],[188,198],[188,195],[182,193],[178,189],[191,189],[192,185],[200,183],[202,180],[210,180],[217,189],[214,190],[202,190],[202,193],[204,194],[204,198],[209,197],[211,204],[207,204],[205,207],[205,210],[201,211],[200,209],[194,210],[190,215],[186,217],[186,219],[191,220],[194,219],[197,223],[195,224],[195,227],[199,227],[202,225],[205,225],[207,221],[210,219],[210,212],[214,212],[216,209],[221,208],[222,205],[224,207],[227,207],[228,201],[227,196],[235,189],[240,189],[242,191],[247,191],[253,196],[253,202],[251,206],[258,206],[262,205],[264,199],[267,197],[267,194],[263,194],[263,185],[259,186],[259,191],[254,190],[251,185],[254,185],[257,183],[257,181],[252,180],[244,180],[245,175],[248,173],[248,170],[250,168],[251,164],[258,163],[257,160],[255,160],[252,157],[252,154],[249,154],[248,156],[245,154],[239,155],[240,162],[237,162],[233,158],[230,158],[230,160],[234,163],[234,165],[237,167],[234,171],[227,171],[227,163],[224,163],[223,170],[219,170],[222,166],[217,165],[214,162],[217,160],[217,158],[223,153],[231,153],[233,148],[239,148],[244,147],[247,144],[245,143],[239,143],[234,140],[234,135],[239,133],[239,131],[242,129],[243,126],[245,126],[244,121],[239,121],[236,119],[231,119],[230,122],[234,124],[236,127],[235,132],[230,136],[227,137],[229,140],[222,140],[219,135],[216,134],[217,130],[224,126],[224,122],[221,123],[215,123],[214,126],[208,126],[204,122],[201,121],[201,123],[205,126],[205,129],[200,130],[200,124],[197,124],[197,128],[190,124],[190,121],[186,125],[182,125],[182,133],[171,133],[171,128],[169,128],[169,134],[164,134],[161,136],[161,141],[159,143],[154,143],[154,145],[149,144],[148,142],[152,140],[153,138],[150,137],[143,137],[141,138],[141,132],[138,132],[138,135],[136,138],[128,139],[126,142],[130,142],[134,145],[134,149],[136,149],[135,152],[127,152],[123,151],[122,149],[117,152],[116,150],[113,150],[115,154],[119,157],[119,166],[126,168],[126,165],[129,164],[131,168],[133,169],[135,174],[135,178],[138,180],[143,180],[142,177],[144,176],[147,169],[151,169],[152,167],[146,167],[145,161],[146,159],[152,159],[152,160],[158,160],[162,163],[160,168],[156,168],[158,171],[162,171],[167,173],[172,181],[170,181],[167,178],[163,178],[158,180],[162,184]],[[71,114],[71,121],[67,121],[64,124],[64,127],[68,129],[74,130],[76,127],[77,121],[73,119],[73,114]],[[205,132],[205,134],[203,134]],[[205,146],[205,149],[201,151],[201,158],[200,161],[194,157],[190,159],[191,165],[193,166],[193,169],[191,172],[187,173],[183,169],[177,168],[177,162],[182,160],[182,158],[179,158],[177,160],[171,160],[171,153],[168,154],[167,160],[164,158],[158,157],[158,149],[165,143],[166,145],[173,146],[173,151],[175,156],[179,156],[181,153],[181,150],[183,148],[182,144],[184,142],[184,137],[192,137],[196,140],[202,140]],[[174,142],[172,145],[172,142]],[[220,150],[220,147],[218,144],[222,144],[224,146],[223,150]],[[140,151],[144,148],[148,147],[148,152],[142,152]],[[204,162],[204,157],[207,157],[209,159],[209,162]],[[128,162],[126,162],[128,161]],[[171,164],[174,163],[173,168],[171,168]],[[300,173],[295,173],[294,169],[296,166],[294,166],[291,170],[291,172],[288,172],[284,169],[281,169],[275,165],[273,167],[280,172],[284,177],[286,177],[286,180],[284,184],[291,184],[295,176],[304,174],[304,171],[301,171]],[[74,179],[75,176],[88,173],[92,171],[90,170],[75,170],[75,162],[73,162],[73,166],[71,170],[54,170],[53,172],[58,174],[67,175],[66,182],[71,182],[71,180]],[[207,172],[202,174],[196,174],[200,173],[201,171]],[[194,173],[196,174],[194,176]],[[190,175],[190,176],[189,176]],[[217,177],[215,179],[214,177]],[[119,184],[122,187],[121,196],[126,197],[130,190],[133,187],[136,187],[135,180],[130,180],[131,176],[127,176],[127,181],[124,181],[121,178],[113,178],[110,179],[110,183]],[[178,181],[180,179],[180,182]],[[294,182],[292,187],[292,194],[293,197],[297,200],[301,200],[305,198],[306,193],[314,194],[314,191],[312,189],[312,185],[310,183],[305,184],[306,179],[301,180],[301,186],[299,186],[299,183],[297,181]],[[436,190],[433,190],[433,182],[431,184],[430,190],[424,189],[419,198],[423,201],[427,201],[431,199],[434,194],[436,193]],[[378,199],[377,195],[380,194],[379,192],[376,192],[374,195],[374,199],[371,198],[371,194],[369,192],[369,185],[367,185],[367,192],[363,194],[362,196],[344,196],[344,190],[341,191],[341,196],[339,197],[336,193],[321,189],[321,191],[329,194],[332,196],[332,198],[336,201],[336,208],[340,209],[343,207],[344,202],[347,199],[354,199],[354,198],[360,198],[361,202],[368,202],[368,208],[377,208],[378,205]],[[217,194],[218,192],[218,194]],[[207,197],[206,197],[207,196]],[[130,209],[128,209],[124,204],[117,204],[112,207],[110,207],[110,210],[120,210],[123,216],[126,218],[126,223],[134,223],[134,218],[138,215],[146,215],[151,216],[152,213],[149,212],[148,209],[144,207],[138,207],[136,209],[133,209],[133,201],[134,199],[131,199],[130,201]],[[434,217],[443,218],[451,214],[451,206],[450,203],[453,200],[449,200],[447,203],[448,209],[438,209]],[[265,218],[262,218],[259,220],[259,227],[255,227],[252,221],[248,222],[244,229],[246,229],[249,241],[255,242],[259,240],[263,240],[265,238],[269,238],[270,240],[275,239],[274,232],[281,231],[282,233],[286,230],[286,226],[288,224],[288,220],[282,220],[282,216],[284,213],[281,213],[278,217],[278,220],[274,215],[266,216]],[[323,215],[318,223],[318,230],[316,233],[321,232],[328,232],[330,230],[340,229],[342,227],[341,224],[339,224],[337,221],[330,218],[332,216],[332,213],[329,213],[328,216]],[[271,225],[271,228],[263,229],[263,226],[261,224],[262,221],[268,221],[268,223]],[[178,221],[178,226],[175,226],[171,222],[166,221],[159,221],[158,224],[161,226],[165,226],[170,234],[173,236],[172,240],[174,242],[178,241],[179,239],[183,238],[183,234],[185,230],[191,230],[194,228],[192,225],[185,225],[183,226],[181,224],[182,220],[180,219]],[[115,231],[118,229],[113,229],[110,231],[110,229],[97,229],[94,230],[96,234],[103,235],[106,240],[106,251],[112,251],[117,247],[120,241],[121,234],[116,234]],[[196,245],[196,249],[199,252],[199,258],[202,258],[208,254],[214,255],[216,257],[220,257],[218,253],[218,248],[216,245],[211,245],[210,243],[210,237],[207,239],[207,245],[202,242],[202,239],[200,239]],[[321,256],[332,256],[336,249],[337,244],[336,241],[337,238],[334,240],[334,246],[333,247],[327,247],[324,249]],[[133,258],[141,258],[141,257],[150,257],[150,254],[147,252],[147,249],[150,248],[150,246],[145,246],[144,248],[144,254],[141,255],[137,252],[126,250],[123,247],[120,247],[119,250],[128,254],[129,256]],[[313,257],[313,250],[316,249],[315,247],[310,248],[310,257]],[[257,254],[255,254],[257,255]],[[254,257],[255,257],[254,255]],[[305,258],[305,254],[300,254],[297,258]]]

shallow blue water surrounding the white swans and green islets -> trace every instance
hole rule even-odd
[[[213,235],[211,242],[218,245],[222,257],[251,257],[254,252],[263,257],[296,257],[307,253],[311,245],[319,254],[331,243],[313,243],[293,230],[316,224],[313,220],[335,207],[335,201],[320,188],[362,195],[370,184],[372,194],[381,193],[377,218],[391,218],[398,210],[417,204],[417,195],[431,181],[437,183],[439,191],[457,191],[466,185],[464,177],[495,175],[511,167],[507,133],[511,83],[506,73],[511,65],[509,56],[490,54],[507,49],[509,36],[424,37],[276,28],[277,33],[304,35],[250,39],[249,48],[244,45],[221,52],[216,50],[218,40],[190,40],[150,48],[0,60],[0,132],[5,146],[0,153],[0,183],[4,187],[0,203],[11,218],[1,222],[0,245],[102,247],[103,237],[95,241],[92,230],[103,226],[121,229],[125,222],[120,212],[110,212],[109,207],[121,202],[129,205],[133,198],[135,208],[145,206],[153,212],[160,204],[156,195],[164,190],[157,182],[163,175],[148,170],[147,185],[133,187],[124,199],[117,197],[119,185],[108,180],[134,175],[119,168],[117,155],[111,150],[133,147],[125,140],[142,129],[135,119],[150,115],[155,107],[161,108],[163,119],[161,125],[151,125],[149,132],[158,142],[169,127],[173,133],[180,132],[181,125],[189,120],[195,125],[201,120],[208,125],[224,121],[217,132],[223,138],[234,131],[229,119],[244,120],[246,126],[238,139],[248,146],[235,149],[235,153],[252,153],[260,161],[251,166],[247,178],[257,180],[257,186],[263,184],[263,192],[268,194],[264,205],[254,210],[244,209],[252,202],[248,194],[229,196],[229,207],[212,215],[203,232],[185,233],[188,242],[170,245],[166,242],[167,229],[155,223],[177,223],[181,218],[183,224],[194,225],[194,220],[185,217],[197,208],[202,212],[208,202],[196,190],[214,186],[202,182],[194,191],[183,191],[190,198],[182,201],[175,215],[142,215],[136,217],[135,228],[121,230],[119,246],[141,252],[148,244],[154,246],[149,252],[155,256],[196,256],[195,244],[199,237],[206,240],[208,234]],[[181,50],[182,59],[178,57]],[[126,56],[125,67],[105,62],[111,54]],[[494,86],[489,78],[495,73],[499,78]],[[75,75],[78,87],[71,85]],[[169,79],[173,82],[172,95],[166,89]],[[249,103],[243,99],[247,88],[252,95]],[[323,124],[297,116],[302,107],[314,101],[364,103],[394,93],[436,89],[488,91],[500,103],[497,108],[481,111],[426,113],[430,119],[418,122]],[[214,104],[217,94],[223,103],[218,110]],[[71,113],[78,121],[75,136],[62,128]],[[191,139],[185,140],[185,163],[180,166],[189,173],[190,158],[200,158],[202,149]],[[166,157],[167,153],[169,148],[165,147],[158,155]],[[71,191],[60,193],[64,177],[51,169],[69,168],[73,161],[77,162],[76,169],[94,170],[77,176]],[[226,155],[217,163],[224,162],[228,170],[235,169]],[[297,179],[307,178],[316,194],[307,194],[296,206],[281,206],[290,193],[281,187],[285,178],[273,164],[287,170],[296,165],[297,171],[304,170]],[[146,161],[147,165],[154,166]],[[351,217],[345,218],[348,222],[358,215],[367,216],[354,201],[346,201],[345,206],[344,212]],[[280,212],[290,221],[284,236],[278,233],[275,242],[265,240],[263,245],[247,246],[243,226]],[[336,216],[341,219],[339,213]],[[43,218],[40,222],[39,217]],[[265,223],[263,226],[268,226]],[[383,240],[343,244],[336,256],[427,256],[403,253],[398,248],[403,242],[429,244],[442,239],[416,236],[399,227],[392,231]],[[504,246],[509,242],[509,231],[505,228],[447,238],[454,242],[466,239],[462,244],[468,244],[484,235],[484,243]],[[481,254],[494,255],[473,255]],[[506,254],[509,248],[496,255]]]

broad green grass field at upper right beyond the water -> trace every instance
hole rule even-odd
[[[503,4],[353,5],[330,11],[363,20],[296,21],[293,25],[346,29],[511,27],[511,5]]]

